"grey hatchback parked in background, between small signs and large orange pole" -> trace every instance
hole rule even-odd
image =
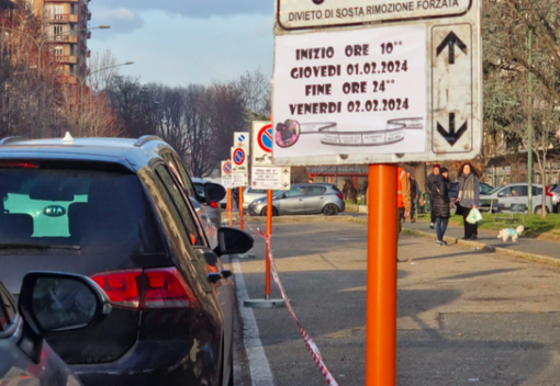
[[[336,216],[346,206],[343,193],[328,183],[302,183],[289,191],[277,192],[272,197],[272,215],[324,214]],[[267,197],[260,197],[249,205],[249,215],[266,216]]]

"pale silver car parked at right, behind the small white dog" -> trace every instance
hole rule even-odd
[[[492,207],[493,212],[512,212],[512,208],[525,207],[528,204],[528,184],[526,183],[512,183],[504,186],[495,188],[489,194],[481,198],[482,207]],[[547,213],[552,212],[551,197],[545,195]],[[530,213],[540,214],[542,212],[542,185],[533,184],[533,207]]]

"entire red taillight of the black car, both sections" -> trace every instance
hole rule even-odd
[[[176,268],[131,270],[92,275],[111,304],[121,308],[197,308],[192,290]]]

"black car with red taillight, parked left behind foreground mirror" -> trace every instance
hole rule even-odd
[[[111,315],[48,337],[85,385],[233,383],[234,291],[219,257],[253,238],[220,229],[212,250],[155,137],[0,141],[0,280],[31,269],[90,276]],[[206,184],[209,202],[222,186]]]

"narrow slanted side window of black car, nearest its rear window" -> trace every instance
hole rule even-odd
[[[200,229],[197,219],[192,215],[192,212],[190,211],[188,204],[183,200],[183,196],[179,191],[180,188],[177,186],[169,170],[164,166],[158,166],[156,168],[156,173],[161,179],[161,182],[164,183],[167,192],[171,197],[171,202],[173,203],[175,207],[177,208],[177,212],[179,213],[181,223],[183,224],[184,229],[187,230],[189,241],[191,242],[191,245],[201,247],[205,246],[204,237],[202,236],[202,230]]]

